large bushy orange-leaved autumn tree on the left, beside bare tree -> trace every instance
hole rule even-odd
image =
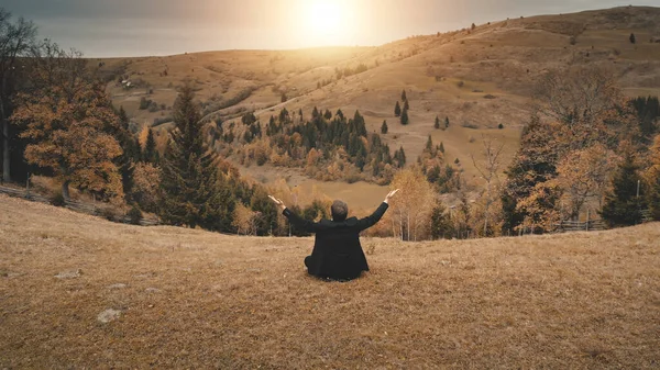
[[[11,120],[24,128],[21,136],[29,162],[47,168],[62,182],[94,191],[107,199],[123,197],[121,176],[114,162],[122,149],[114,135],[121,130],[105,87],[87,72],[77,52],[53,48],[44,69],[34,70],[35,89],[19,97]]]

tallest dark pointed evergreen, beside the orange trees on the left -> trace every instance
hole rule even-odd
[[[174,103],[176,127],[162,166],[160,214],[173,225],[219,229],[233,203],[219,183],[216,156],[204,145],[201,114],[194,99],[193,87],[186,85]]]

